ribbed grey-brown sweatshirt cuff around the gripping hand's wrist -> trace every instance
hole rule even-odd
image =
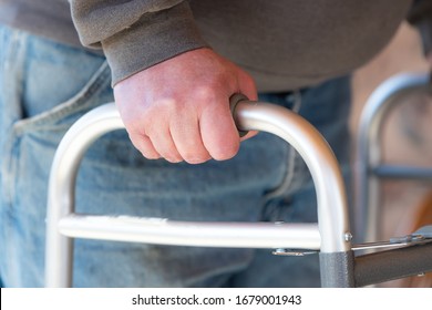
[[[145,13],[136,23],[102,41],[112,70],[112,85],[181,53],[205,46],[207,43],[187,2]]]

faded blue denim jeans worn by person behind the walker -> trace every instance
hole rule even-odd
[[[0,28],[0,279],[44,283],[44,219],[51,161],[81,115],[113,101],[105,59]],[[349,78],[292,94],[267,94],[308,118],[348,167]],[[299,101],[301,97],[301,104]],[[316,221],[301,158],[260,133],[226,162],[147,161],[125,132],[99,140],[78,176],[76,211],[177,220]],[[75,240],[76,287],[317,287],[318,256],[270,250]]]

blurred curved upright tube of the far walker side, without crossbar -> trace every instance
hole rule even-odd
[[[395,99],[428,84],[426,74],[400,74],[382,83],[367,101],[360,116],[356,158],[354,235],[357,242],[380,239],[380,178],[373,174],[381,164],[381,128],[384,117],[401,101]]]

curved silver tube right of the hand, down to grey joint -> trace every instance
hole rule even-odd
[[[344,184],[335,154],[321,134],[298,114],[268,103],[240,102],[235,120],[243,131],[268,132],[296,148],[310,170],[317,192],[321,252],[350,250]]]

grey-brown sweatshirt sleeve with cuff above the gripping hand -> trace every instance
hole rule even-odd
[[[187,1],[70,0],[84,46],[103,49],[113,85],[186,51],[207,46]]]

